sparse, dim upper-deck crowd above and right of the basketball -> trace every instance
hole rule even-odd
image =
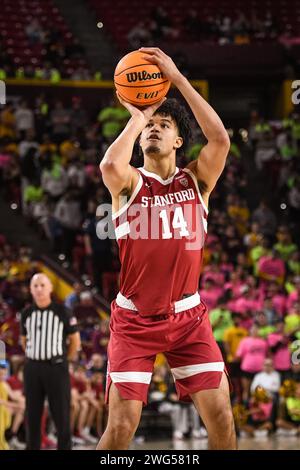
[[[127,37],[129,45],[137,49],[167,39],[240,45],[268,40],[280,41],[286,36],[289,36],[288,25],[280,24],[271,11],[259,15],[253,10],[250,16],[240,10],[234,16],[222,11],[203,15],[190,8],[182,15],[182,21],[178,24],[167,8],[157,6],[148,19],[131,28]]]

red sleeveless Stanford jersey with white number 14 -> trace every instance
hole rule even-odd
[[[208,212],[190,170],[176,168],[167,180],[138,171],[133,194],[112,216],[120,292],[142,316],[168,314],[198,291]]]

